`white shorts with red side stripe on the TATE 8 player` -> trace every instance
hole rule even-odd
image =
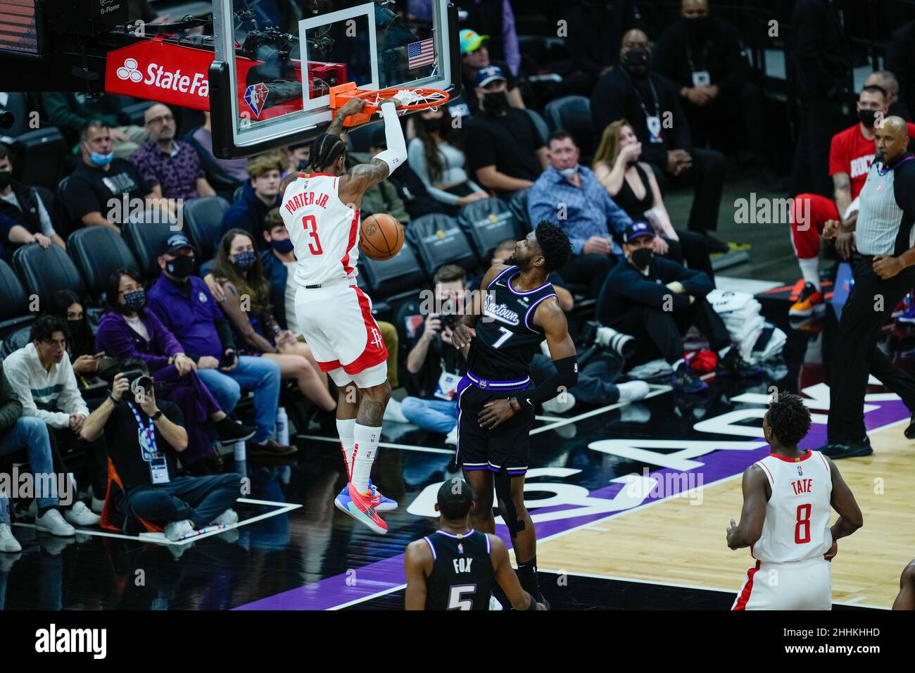
[[[832,610],[833,564],[823,559],[756,562],[731,610]]]

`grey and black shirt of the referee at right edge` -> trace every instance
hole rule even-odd
[[[861,189],[855,242],[861,255],[899,256],[915,245],[915,158],[907,154],[883,172],[874,161]]]

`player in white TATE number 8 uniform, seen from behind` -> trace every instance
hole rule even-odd
[[[863,525],[855,496],[835,464],[819,451],[800,450],[810,429],[801,397],[782,393],[762,420],[772,452],[743,475],[740,524],[727,546],[749,547],[757,559],[733,610],[831,610],[836,540]],[[839,513],[832,528],[830,508]]]

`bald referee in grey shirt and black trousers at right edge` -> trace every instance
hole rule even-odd
[[[861,190],[856,230],[840,232],[841,225],[830,223],[823,232],[837,246],[851,239],[861,255],[835,340],[842,366],[833,368],[827,443],[820,447],[832,459],[874,452],[864,425],[867,374],[877,376],[915,410],[915,378],[877,348],[877,332],[915,286],[915,157],[901,117],[888,117],[876,134],[877,154]],[[915,419],[905,436],[915,439]]]

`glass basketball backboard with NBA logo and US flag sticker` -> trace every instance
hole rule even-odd
[[[213,0],[213,148],[240,157],[317,136],[329,90],[423,86],[457,95],[458,14],[429,0],[429,20],[389,0]]]

